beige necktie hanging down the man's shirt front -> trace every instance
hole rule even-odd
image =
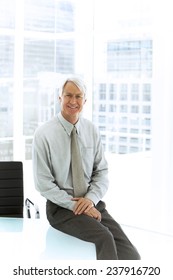
[[[83,197],[86,193],[86,182],[84,180],[84,171],[75,126],[71,132],[71,168],[74,196]]]

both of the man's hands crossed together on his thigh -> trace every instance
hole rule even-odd
[[[89,198],[85,197],[74,197],[73,201],[76,201],[73,213],[75,215],[87,215],[95,218],[99,222],[101,221],[101,213],[94,207],[93,202]]]

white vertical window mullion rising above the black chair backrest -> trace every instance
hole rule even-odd
[[[16,0],[13,94],[13,158],[15,160],[23,160],[25,155],[23,137],[23,31],[24,1]]]

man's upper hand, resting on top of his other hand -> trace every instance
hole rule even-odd
[[[74,214],[80,215],[82,213],[88,212],[92,207],[94,207],[93,202],[85,197],[74,197],[72,198],[73,201],[76,201],[76,205],[74,207]]]

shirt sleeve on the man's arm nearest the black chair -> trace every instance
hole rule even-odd
[[[53,203],[73,210],[72,196],[57,185],[52,172],[49,144],[43,135],[36,132],[33,140],[33,175],[36,189]]]

